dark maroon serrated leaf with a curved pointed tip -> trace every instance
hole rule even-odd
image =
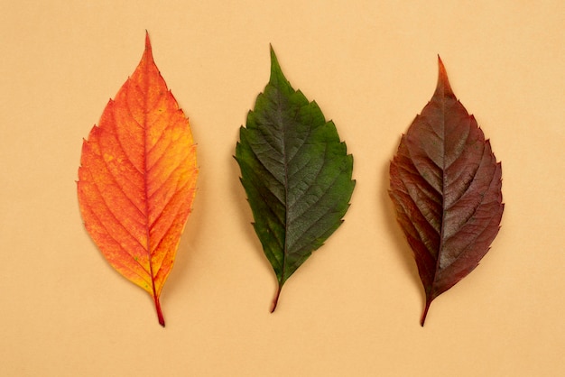
[[[500,228],[502,168],[439,59],[438,86],[403,135],[390,197],[412,247],[426,305],[477,267]]]

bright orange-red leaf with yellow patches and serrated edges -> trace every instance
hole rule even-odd
[[[196,193],[188,119],[153,61],[142,60],[82,144],[79,206],[107,261],[159,302]]]

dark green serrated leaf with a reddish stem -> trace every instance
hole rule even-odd
[[[320,107],[292,88],[271,48],[271,78],[236,145],[255,233],[278,290],[343,222],[355,187],[353,157]]]

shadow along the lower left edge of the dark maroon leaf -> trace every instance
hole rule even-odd
[[[396,153],[396,150],[394,150]],[[393,155],[393,154],[391,154]],[[420,275],[418,273],[418,268],[416,266],[416,262],[414,261],[414,255],[408,241],[406,240],[406,236],[403,234],[403,231],[396,221],[396,211],[394,209],[394,204],[391,198],[388,195],[389,191],[389,182],[390,182],[390,175],[389,175],[389,167],[390,161],[387,161],[381,166],[381,173],[380,176],[382,177],[381,187],[379,188],[379,198],[381,202],[381,207],[384,209],[381,213],[384,216],[384,224],[386,226],[387,234],[391,234],[394,244],[396,244],[397,255],[400,258],[404,271],[407,272],[411,276],[411,280],[414,286],[418,287],[421,292],[421,300],[422,304],[425,303],[425,295],[423,289],[421,288],[421,280]]]

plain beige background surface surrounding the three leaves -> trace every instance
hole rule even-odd
[[[0,369],[6,376],[565,373],[565,3],[2,1]],[[113,271],[76,195],[82,138],[144,32],[199,143],[199,193],[162,294]],[[275,280],[232,159],[269,43],[355,157],[346,222]],[[502,229],[431,306],[387,197],[437,54],[503,163]]]

